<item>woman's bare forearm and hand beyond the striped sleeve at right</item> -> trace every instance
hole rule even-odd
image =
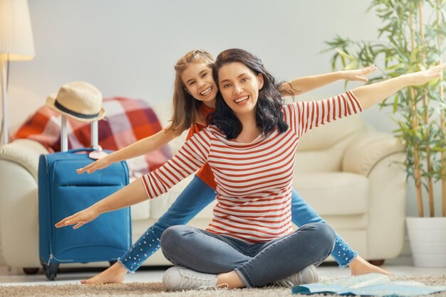
[[[383,99],[395,94],[395,92],[403,89],[403,87],[408,87],[410,85],[424,85],[430,80],[442,77],[442,71],[445,70],[445,68],[446,63],[440,64],[427,70],[400,75],[398,77],[390,78],[390,80],[384,80],[383,82],[377,82],[372,85],[357,87],[356,89],[353,89],[352,92],[361,103],[361,106],[365,109],[383,101]]]

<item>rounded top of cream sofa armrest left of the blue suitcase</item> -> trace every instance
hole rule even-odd
[[[0,159],[11,161],[24,167],[37,180],[38,157],[48,153],[45,146],[32,139],[16,139],[1,146]]]

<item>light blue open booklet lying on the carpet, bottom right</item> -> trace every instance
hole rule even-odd
[[[385,274],[363,274],[294,286],[295,294],[338,294],[358,296],[416,296],[446,291],[446,286],[426,286],[418,281],[390,281]]]

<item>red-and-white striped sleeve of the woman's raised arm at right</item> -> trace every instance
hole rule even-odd
[[[284,117],[300,137],[319,125],[362,112],[363,107],[353,92],[347,91],[328,99],[293,102],[284,107]]]

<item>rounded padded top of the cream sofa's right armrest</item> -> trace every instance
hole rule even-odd
[[[401,141],[391,134],[366,131],[348,145],[342,160],[342,171],[368,176],[384,158],[404,152]]]

